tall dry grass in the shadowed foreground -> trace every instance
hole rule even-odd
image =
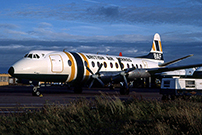
[[[201,98],[154,101],[102,95],[0,116],[0,134],[202,134]]]

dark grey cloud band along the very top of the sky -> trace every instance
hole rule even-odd
[[[175,23],[202,25],[202,4],[195,1],[127,1],[128,5],[70,3],[56,6],[27,6],[10,12],[13,16],[82,20],[110,23]],[[198,3],[198,4],[197,4]],[[139,6],[138,6],[139,5]]]

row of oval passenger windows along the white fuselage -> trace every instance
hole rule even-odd
[[[87,62],[85,61],[85,66],[87,66]],[[97,62],[97,67],[100,67],[100,62],[98,61]],[[70,60],[68,60],[68,65],[69,66],[71,66],[72,65],[72,62],[70,61]],[[92,67],[95,67],[96,66],[96,64],[95,64],[95,62],[94,61],[92,61],[91,62],[91,65],[92,65]],[[104,62],[103,63],[103,66],[105,67],[105,68],[107,68],[107,63],[106,62]],[[111,68],[114,68],[114,66],[116,67],[116,68],[119,68],[119,64],[117,63],[117,62],[115,62],[115,65],[112,63],[112,62],[110,62],[110,67]],[[136,64],[135,66],[133,65],[133,64],[131,64],[131,66],[127,63],[127,67],[124,67],[124,64],[123,63],[121,63],[121,67],[124,69],[124,68],[143,68],[143,66],[140,64],[140,67],[138,66],[138,64]]]

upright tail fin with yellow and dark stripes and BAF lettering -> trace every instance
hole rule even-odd
[[[151,51],[148,55],[137,57],[137,58],[148,58],[148,59],[154,59],[154,60],[164,60],[163,59],[163,49],[161,45],[161,38],[158,33],[154,35],[153,44]]]

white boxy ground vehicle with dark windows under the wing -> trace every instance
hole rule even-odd
[[[179,96],[202,95],[202,79],[196,78],[163,78],[160,94],[162,100]]]

